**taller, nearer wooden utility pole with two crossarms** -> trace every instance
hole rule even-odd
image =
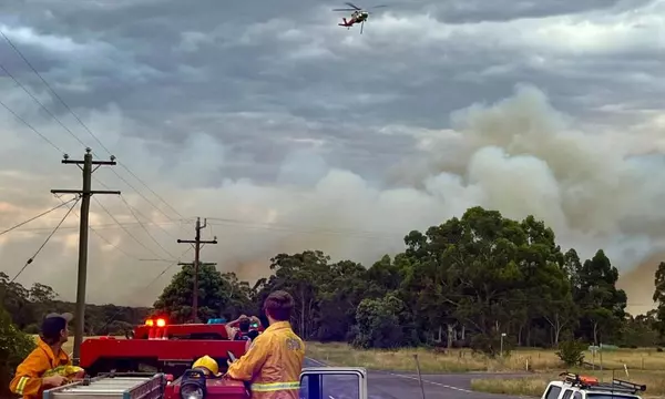
[[[79,365],[81,360],[81,342],[83,342],[83,334],[85,326],[85,283],[88,278],[88,218],[90,214],[90,197],[93,194],[115,194],[120,195],[119,191],[99,191],[92,190],[92,173],[102,165],[114,166],[115,156],[111,155],[111,161],[93,161],[92,150],[85,149],[83,161],[70,160],[68,154],[63,155],[63,164],[76,165],[83,171],[83,188],[82,190],[51,190],[53,194],[79,194],[81,195],[81,225],[79,229],[79,273],[76,278],[76,310],[74,319],[74,365]],[[83,165],[83,166],[81,166]],[[92,166],[95,165],[95,168]]]

